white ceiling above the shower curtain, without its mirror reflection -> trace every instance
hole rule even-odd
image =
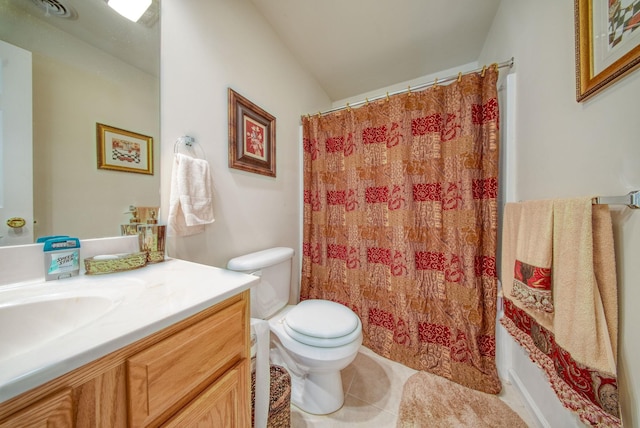
[[[478,60],[500,0],[251,0],[332,101]]]

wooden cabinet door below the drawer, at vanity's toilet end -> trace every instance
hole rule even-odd
[[[165,428],[245,428],[251,426],[248,385],[249,363],[241,361],[188,406]]]

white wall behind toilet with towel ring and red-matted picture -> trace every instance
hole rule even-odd
[[[329,107],[328,96],[247,0],[164,0],[161,24],[162,217],[174,141],[186,134],[211,166],[216,219],[171,238],[169,254],[223,267],[271,246],[297,250],[300,115]],[[228,87],[276,117],[276,178],[228,167]]]

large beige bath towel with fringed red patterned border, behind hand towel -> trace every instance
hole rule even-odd
[[[587,424],[621,426],[616,374],[617,284],[608,206],[591,198],[553,201],[554,312],[511,297],[524,204],[505,207],[500,320],[549,377],[565,407]]]

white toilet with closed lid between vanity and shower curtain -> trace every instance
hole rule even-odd
[[[227,269],[260,277],[251,288],[251,317],[268,320],[270,359],[291,376],[291,402],[307,413],[340,409],[344,391],[340,370],[362,344],[360,318],[329,300],[289,305],[294,251],[276,247],[229,260]]]

